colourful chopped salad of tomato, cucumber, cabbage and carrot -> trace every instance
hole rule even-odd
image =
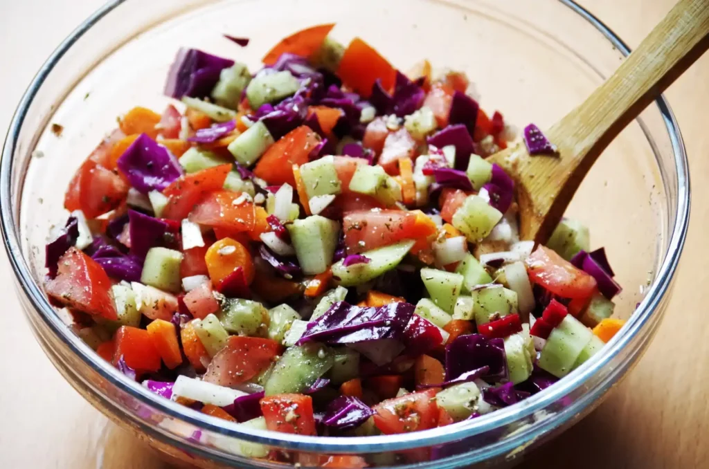
[[[574,220],[546,247],[518,239],[515,183],[485,159],[515,139],[501,113],[465,74],[403,74],[332,28],[256,72],[179,50],[177,101],[128,111],[69,183],[50,300],[150,390],[303,435],[476,418],[596,354],[620,286]],[[534,125],[523,138],[554,152]]]

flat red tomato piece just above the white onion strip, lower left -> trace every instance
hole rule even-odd
[[[212,358],[203,380],[220,386],[245,383],[268,368],[281,349],[281,345],[271,339],[231,336]]]

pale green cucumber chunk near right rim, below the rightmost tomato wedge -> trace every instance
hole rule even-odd
[[[542,370],[563,378],[574,369],[576,360],[581,356],[593,334],[591,329],[581,324],[571,315],[566,315],[561,324],[549,334],[539,358]]]

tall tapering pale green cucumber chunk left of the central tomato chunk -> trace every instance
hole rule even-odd
[[[303,273],[317,275],[328,270],[335,254],[340,224],[320,215],[312,215],[286,226]]]

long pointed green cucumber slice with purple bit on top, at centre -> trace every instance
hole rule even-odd
[[[340,279],[337,283],[341,286],[361,285],[398,266],[411,247],[413,247],[413,244],[415,244],[415,241],[412,239],[364,252],[362,255],[369,259],[368,264],[354,264],[345,267],[343,265],[344,259],[342,259],[342,261],[337,261],[333,264],[333,276]]]

